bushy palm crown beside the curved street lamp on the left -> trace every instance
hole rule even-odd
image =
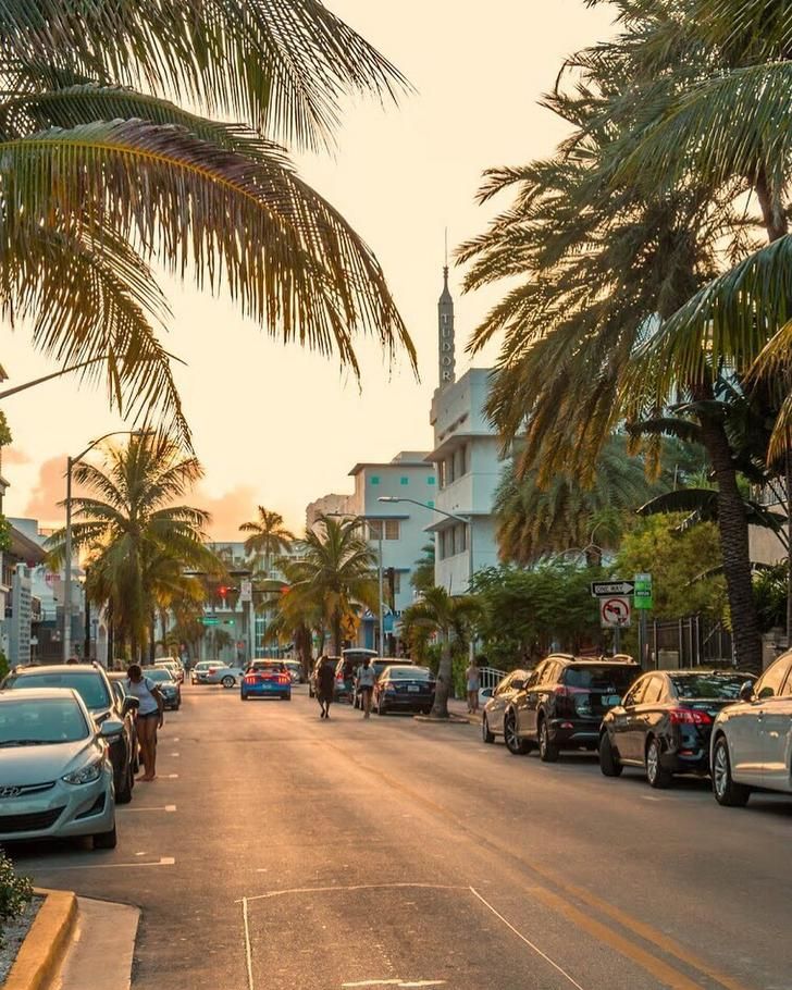
[[[116,642],[128,641],[135,659],[158,604],[200,597],[180,571],[218,566],[203,545],[208,513],[176,502],[201,475],[197,458],[151,434],[106,447],[101,468],[74,468],[77,483],[92,493],[72,499],[74,546],[88,557],[89,593],[97,604],[109,604]],[[63,559],[64,536],[61,530],[50,537],[55,560]]]

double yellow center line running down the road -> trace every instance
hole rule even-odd
[[[437,804],[429,797],[425,797],[420,791],[410,788],[408,784],[403,783],[400,780],[397,780],[391,775],[383,774],[375,767],[369,766],[359,759],[356,755],[347,752],[343,746],[339,746],[337,743],[326,743],[326,745],[330,748],[335,750],[338,754],[349,760],[349,763],[359,767],[361,770],[375,776],[379,781],[386,783],[388,787],[393,788],[395,791],[400,792],[401,794],[406,794],[417,804],[435,812],[441,817],[445,818],[446,821],[448,821],[456,829],[458,825],[458,817],[454,815],[449,808],[446,808],[444,805]],[[539,866],[535,862],[525,859],[524,856],[521,856],[518,852],[515,851],[513,846],[505,845],[503,842],[499,842],[490,834],[478,832],[474,827],[471,827],[469,829],[468,834],[470,838],[475,838],[482,845],[487,845],[499,854],[505,853],[511,858],[521,863],[529,870],[532,870],[534,874],[536,874],[536,876],[547,881],[556,890],[561,890],[566,894],[570,894],[572,898],[582,901],[584,904],[587,904],[596,911],[601,911],[603,914],[608,915],[615,921],[621,925],[622,928],[626,928],[633,935],[639,936],[639,938],[644,939],[646,942],[651,942],[653,945],[667,953],[668,955],[675,956],[679,962],[684,963],[693,969],[697,969],[700,973],[708,976],[717,983],[720,983],[720,986],[726,988],[726,990],[748,990],[744,983],[741,983],[737,979],[732,979],[730,976],[727,976],[727,974],[721,973],[718,969],[715,969],[709,963],[707,963],[701,956],[695,955],[695,953],[690,952],[675,939],[669,938],[661,931],[653,928],[651,925],[639,920],[639,918],[627,914],[626,912],[610,904],[608,901],[602,900],[601,898],[596,896],[596,894],[587,891],[585,888],[574,887],[573,884],[568,883],[561,874],[554,873],[547,867]],[[697,985],[693,986],[697,988]]]

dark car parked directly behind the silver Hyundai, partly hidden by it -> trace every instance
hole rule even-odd
[[[137,763],[133,713],[140,704],[136,697],[122,697],[113,690],[104,668],[99,664],[59,664],[49,667],[14,667],[0,688],[16,691],[25,688],[73,688],[86,708],[101,725],[107,718],[123,722],[124,731],[109,742],[113,765],[115,803],[132,801]]]

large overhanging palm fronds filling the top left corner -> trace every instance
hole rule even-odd
[[[0,306],[35,347],[106,356],[111,401],[186,435],[164,265],[356,373],[360,334],[414,366],[373,252],[282,147],[326,148],[346,97],[407,88],[319,0],[11,0],[0,36]]]

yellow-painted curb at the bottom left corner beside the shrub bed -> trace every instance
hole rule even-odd
[[[11,967],[4,990],[45,990],[69,949],[77,917],[77,898],[71,890],[35,888],[45,898],[36,919]]]

